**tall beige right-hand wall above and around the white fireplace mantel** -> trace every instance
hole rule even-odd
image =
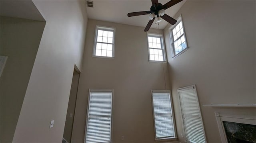
[[[172,59],[164,29],[172,96],[180,141],[177,88],[196,84],[207,141],[220,142],[214,111],[255,114],[254,109],[211,108],[203,104],[255,104],[255,1],[187,1],[182,14],[188,51]]]

